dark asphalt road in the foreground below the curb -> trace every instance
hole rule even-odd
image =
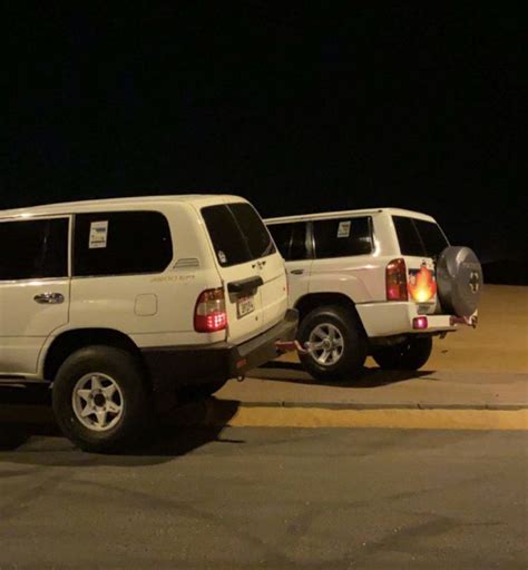
[[[179,428],[110,456],[11,438],[2,569],[526,568],[526,432]]]

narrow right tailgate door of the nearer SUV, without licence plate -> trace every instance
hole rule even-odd
[[[284,318],[287,309],[287,281],[284,261],[255,208],[247,203],[229,206],[233,216],[246,239],[250,255],[258,271],[261,286],[262,318],[264,328]]]

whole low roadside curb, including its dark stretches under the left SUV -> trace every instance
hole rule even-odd
[[[402,430],[528,430],[528,407],[502,405],[487,407],[420,407],[418,405],[385,405],[381,407],[364,404],[295,405],[292,402],[273,405],[252,403],[246,405],[236,400],[206,400],[174,409],[160,417],[160,433],[173,433],[175,429],[223,428],[383,428]],[[18,407],[13,410],[12,407]],[[12,406],[0,409],[0,439],[18,431],[60,435],[50,407]],[[45,432],[42,432],[45,430]],[[166,431],[168,430],[168,431]],[[185,432],[183,432],[185,434]],[[1,446],[1,442],[0,442]]]

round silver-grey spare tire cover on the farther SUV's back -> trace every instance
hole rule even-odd
[[[437,263],[437,286],[443,311],[470,316],[482,291],[482,267],[469,247],[446,247]]]

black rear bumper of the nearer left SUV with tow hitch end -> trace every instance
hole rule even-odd
[[[283,321],[239,345],[227,342],[202,346],[163,346],[141,350],[155,390],[217,382],[245,373],[281,354],[277,341],[293,341],[299,313],[289,309]]]

